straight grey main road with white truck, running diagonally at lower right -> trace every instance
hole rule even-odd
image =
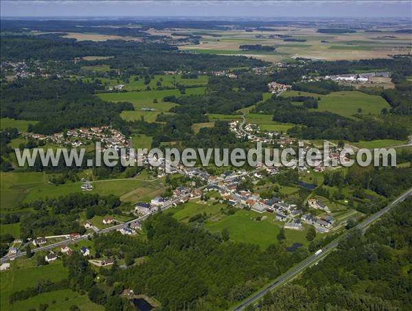
[[[388,211],[392,209],[392,207],[402,202],[405,198],[411,195],[412,195],[412,188],[409,189],[407,192],[404,192],[404,194],[402,194],[401,196],[398,196],[398,198],[396,198],[396,200],[393,200],[393,202],[389,204],[387,207],[381,209],[376,214],[370,216],[369,218],[367,218],[366,220],[358,224],[356,228],[362,229],[363,232],[365,232],[372,222],[380,218],[382,215],[386,214]],[[273,288],[276,288],[277,286],[281,286],[282,284],[284,284],[284,282],[292,279],[296,275],[299,275],[299,273],[303,272],[303,270],[305,270],[306,268],[308,268],[309,266],[311,266],[312,264],[314,264],[321,258],[326,257],[329,253],[331,253],[334,249],[336,249],[336,246],[338,246],[339,241],[341,241],[345,237],[345,235],[347,235],[347,233],[341,235],[339,238],[330,242],[330,244],[328,244],[327,246],[323,247],[321,254],[312,255],[306,258],[306,260],[304,260],[297,266],[288,270],[288,272],[284,273],[283,275],[275,279],[275,281],[273,281],[272,284],[269,284],[265,288],[262,288],[262,290],[255,293],[255,295],[253,295],[252,297],[249,297],[247,300],[240,303],[240,305],[234,308],[233,310],[235,311],[242,310],[243,308],[249,306],[251,303],[257,301],[258,299],[261,299],[264,296],[264,294],[266,294],[266,292],[268,292],[269,290],[273,290]]]

